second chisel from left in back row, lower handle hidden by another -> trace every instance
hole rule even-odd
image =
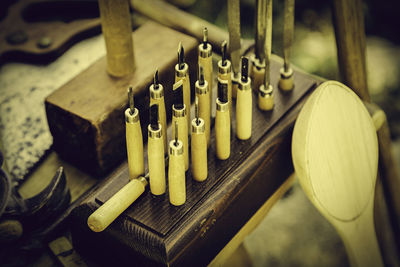
[[[158,81],[158,70],[154,74],[153,84],[150,85],[149,91],[150,105],[158,105],[158,121],[161,123],[164,153],[168,153],[167,114],[165,112],[164,87]]]

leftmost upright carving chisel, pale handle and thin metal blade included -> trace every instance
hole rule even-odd
[[[129,178],[144,174],[143,136],[139,110],[135,108],[132,87],[128,89],[129,107],[125,110],[126,150],[128,152]]]

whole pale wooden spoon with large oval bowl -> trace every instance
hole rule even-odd
[[[378,141],[364,104],[345,85],[321,84],[293,132],[293,164],[308,198],[342,237],[352,266],[383,266],[373,207]]]

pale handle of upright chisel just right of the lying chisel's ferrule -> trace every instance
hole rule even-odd
[[[150,128],[150,126],[149,126]],[[165,193],[165,159],[164,159],[164,142],[162,136],[151,137],[149,129],[148,138],[148,160],[149,160],[149,183],[151,193],[154,195],[162,195]],[[160,129],[158,132],[153,132],[155,134],[162,132],[162,126],[160,124]]]

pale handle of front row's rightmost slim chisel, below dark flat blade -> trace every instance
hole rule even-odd
[[[251,137],[252,102],[251,89],[237,90],[236,136],[240,140],[247,140]]]

